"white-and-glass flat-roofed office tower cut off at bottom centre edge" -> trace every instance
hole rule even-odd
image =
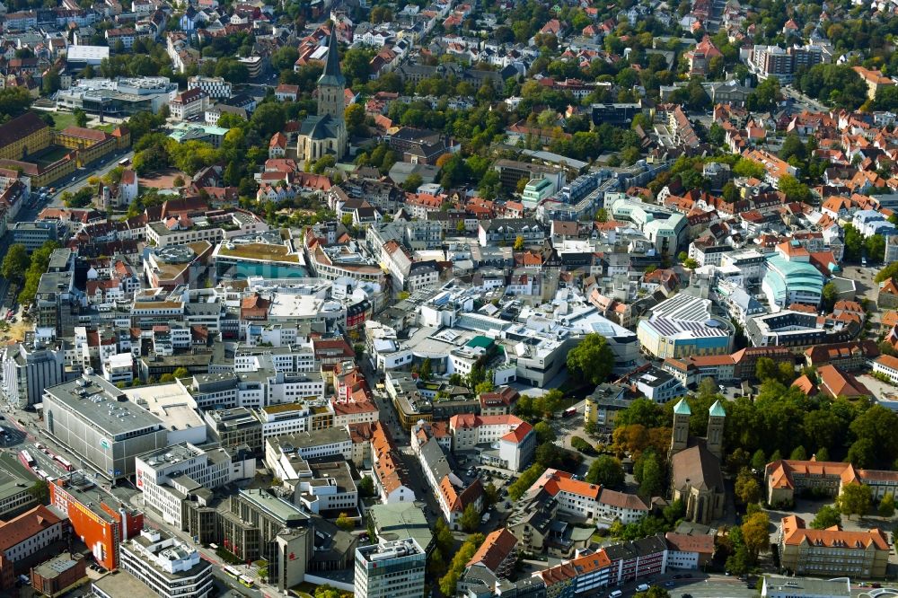
[[[427,553],[413,538],[356,549],[358,598],[419,598],[424,594]]]

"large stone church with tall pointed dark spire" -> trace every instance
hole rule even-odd
[[[325,155],[338,162],[346,154],[348,135],[343,110],[346,110],[346,78],[339,68],[337,27],[331,26],[328,56],[324,72],[318,78],[318,114],[306,117],[296,138],[296,157],[311,166]]]

